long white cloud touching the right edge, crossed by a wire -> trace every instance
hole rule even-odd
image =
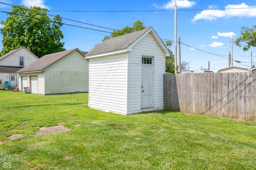
[[[256,6],[248,6],[245,3],[238,5],[227,5],[225,10],[216,10],[214,5],[208,6],[209,10],[203,10],[196,14],[193,22],[196,20],[217,20],[218,18],[231,17],[256,17]],[[244,9],[241,9],[244,8]]]

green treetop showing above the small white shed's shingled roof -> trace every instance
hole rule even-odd
[[[147,27],[143,26],[143,22],[141,22],[140,20],[137,20],[136,22],[134,22],[132,27],[126,26],[122,30],[114,30],[111,33],[110,36],[104,36],[104,39],[102,40],[102,42],[104,42],[108,38],[122,36],[124,34],[128,34],[128,33],[131,33],[131,32],[136,32],[136,31],[139,31],[139,30],[143,30],[145,28],[147,28]]]

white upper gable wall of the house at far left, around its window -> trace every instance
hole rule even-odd
[[[24,67],[36,61],[38,58],[24,48],[20,48],[14,53],[3,58],[0,63],[2,66],[20,67],[20,56],[24,57]]]

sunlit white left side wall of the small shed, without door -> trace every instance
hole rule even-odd
[[[89,107],[126,114],[126,53],[90,58]]]

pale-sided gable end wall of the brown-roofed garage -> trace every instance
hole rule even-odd
[[[88,92],[88,60],[73,51],[46,68],[45,94]]]

